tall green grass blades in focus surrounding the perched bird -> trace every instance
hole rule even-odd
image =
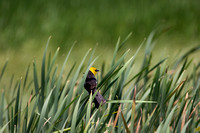
[[[12,94],[1,91],[0,132],[199,131],[200,65],[190,59],[190,54],[200,46],[189,50],[171,65],[166,62],[167,58],[151,64],[154,44],[154,33],[151,33],[130,59],[127,59],[129,50],[117,58],[129,37],[124,41],[118,39],[111,66],[105,69],[102,64],[97,77],[98,90],[107,103],[99,109],[91,104],[94,95],[89,95],[83,87],[89,68],[97,60],[93,57],[95,49],[88,50],[78,66],[69,68],[72,46],[58,72],[55,62],[59,48],[53,57],[48,55],[49,38],[41,70],[33,61],[24,79],[13,85],[12,77],[5,87],[13,91]],[[143,47],[143,63],[139,71],[132,74],[137,54]],[[0,80],[6,66],[7,62]],[[193,71],[189,67],[193,67]],[[31,69],[33,77],[28,79]],[[65,69],[69,69],[69,73],[64,73]],[[28,90],[32,92],[28,93]],[[24,100],[25,95],[29,95],[28,100]]]

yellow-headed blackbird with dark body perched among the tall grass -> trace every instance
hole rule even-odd
[[[95,67],[91,67],[86,77],[84,87],[88,91],[89,94],[91,92],[92,94],[94,94],[97,91],[97,80],[95,78],[95,74],[98,71],[99,70],[97,70]],[[106,100],[103,98],[103,96],[99,92],[97,92],[97,95],[95,96],[93,102],[95,103],[95,107],[98,108],[101,103],[102,104],[106,103]]]

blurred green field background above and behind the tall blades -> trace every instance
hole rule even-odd
[[[109,61],[118,37],[130,32],[127,47],[134,52],[155,29],[162,29],[156,55],[184,51],[199,45],[199,6],[199,0],[1,0],[1,67],[9,58],[10,73],[24,72],[34,57],[41,61],[49,36],[53,51],[61,47],[60,57],[77,41],[73,60],[98,43],[96,55]]]

